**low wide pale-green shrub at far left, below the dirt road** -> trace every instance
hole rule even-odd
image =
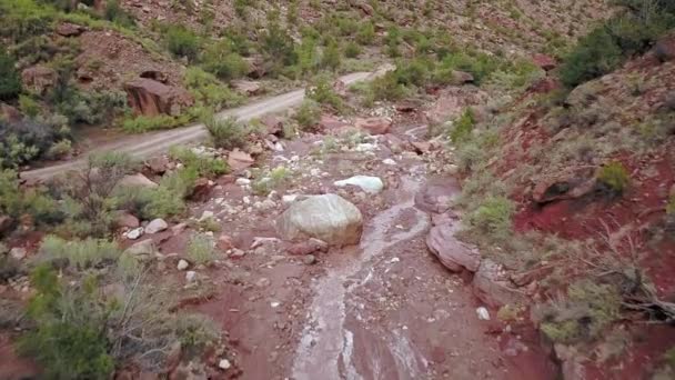
[[[56,236],[48,236],[40,246],[40,260],[67,260],[78,269],[97,267],[104,262],[114,262],[121,254],[114,242],[85,239],[67,241]]]

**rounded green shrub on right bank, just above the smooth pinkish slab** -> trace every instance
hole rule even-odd
[[[487,237],[504,237],[511,231],[511,217],[515,211],[506,197],[487,197],[469,214],[469,224]]]

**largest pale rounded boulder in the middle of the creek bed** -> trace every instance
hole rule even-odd
[[[285,240],[316,238],[329,244],[356,244],[363,231],[361,211],[336,194],[308,197],[296,201],[276,221]]]

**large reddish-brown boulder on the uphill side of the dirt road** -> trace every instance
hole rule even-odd
[[[129,106],[137,114],[154,117],[178,116],[194,103],[185,89],[167,86],[157,80],[138,78],[124,84]]]

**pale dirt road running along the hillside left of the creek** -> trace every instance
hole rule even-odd
[[[387,69],[381,69],[374,72],[354,72],[344,77],[340,80],[345,84],[352,84],[355,82],[370,80]],[[235,117],[241,121],[248,121],[251,119],[260,118],[264,114],[281,112],[289,108],[299,106],[304,99],[304,89],[296,90],[289,93],[284,93],[278,97],[272,97],[265,100],[261,100],[248,106],[225,110],[218,114],[219,118]],[[125,137],[119,141],[114,141],[101,147],[98,147],[90,151],[93,152],[105,152],[117,151],[129,153],[135,158],[148,158],[152,154],[157,154],[167,151],[173,146],[185,144],[194,141],[204,139],[208,136],[208,131],[204,124],[198,123],[184,128],[152,132],[139,136]],[[47,180],[57,174],[69,170],[77,170],[84,166],[85,158],[78,160],[21,172],[21,178],[27,180]]]

